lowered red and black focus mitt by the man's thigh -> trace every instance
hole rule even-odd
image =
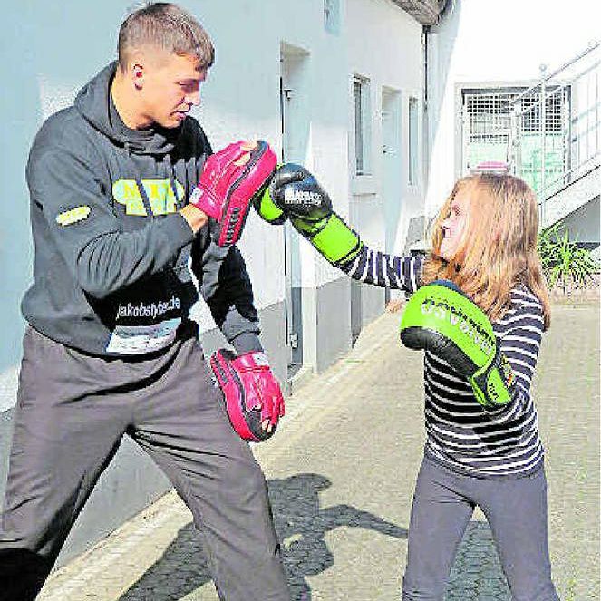
[[[284,415],[284,397],[265,354],[237,356],[219,349],[211,356],[210,365],[234,430],[246,441],[266,441]]]

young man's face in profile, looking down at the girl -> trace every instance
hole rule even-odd
[[[140,109],[148,125],[175,128],[184,121],[193,106],[200,104],[200,83],[207,72],[199,66],[199,59],[190,54],[166,53],[153,49],[134,76],[140,92]]]

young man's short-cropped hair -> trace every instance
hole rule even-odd
[[[121,24],[117,46],[121,71],[127,69],[131,50],[146,45],[197,56],[202,70],[215,61],[213,44],[199,22],[183,8],[167,2],[151,2]]]

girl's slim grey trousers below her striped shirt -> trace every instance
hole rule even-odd
[[[547,480],[484,480],[425,457],[415,485],[403,601],[442,601],[455,553],[478,505],[489,520],[515,601],[558,601],[548,557]]]

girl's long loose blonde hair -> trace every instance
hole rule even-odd
[[[455,257],[441,257],[441,224],[459,192],[469,199],[469,212]],[[510,305],[511,288],[527,286],[543,305],[545,329],[550,325],[548,289],[537,253],[537,199],[524,181],[511,175],[480,174],[461,178],[433,226],[431,254],[422,284],[449,279],[468,294],[491,320]]]

